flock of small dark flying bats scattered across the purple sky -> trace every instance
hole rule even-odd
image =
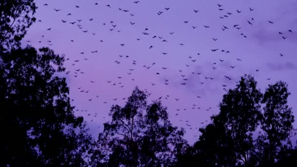
[[[131,5],[138,5],[139,3],[142,3],[143,1],[132,1],[131,2]],[[86,2],[88,3],[88,2]],[[128,3],[128,2],[127,2]],[[99,4],[99,3],[94,3],[94,4],[86,4],[88,6],[91,6],[93,5],[94,7],[106,7],[106,8],[110,8],[110,12],[114,12],[115,10],[118,10],[118,11],[121,11],[121,12],[124,12],[124,13],[127,13],[129,14],[129,17],[130,17],[130,20],[133,20],[133,17],[136,15],[136,14],[133,14],[133,12],[131,10],[128,10],[128,9],[123,9],[123,8],[119,8],[119,7],[116,7],[116,6],[112,6],[110,4]],[[61,12],[61,17],[63,18],[67,18],[69,17],[69,19],[61,19],[61,21],[64,23],[64,24],[72,24],[72,25],[75,25],[75,28],[78,28],[81,33],[85,33],[85,34],[89,34],[89,35],[92,35],[92,36],[95,36],[96,33],[94,32],[90,32],[87,27],[84,26],[84,23],[85,22],[92,22],[92,21],[96,21],[96,19],[94,18],[88,18],[88,19],[80,19],[80,18],[76,18],[75,20],[71,17],[73,14],[72,13],[69,13],[67,12],[67,10],[74,10],[75,8],[79,10],[79,8],[83,8],[82,6],[80,5],[69,5],[69,8],[70,9],[60,9],[60,8],[57,8],[57,6],[51,6],[50,4],[48,3],[44,3],[43,4],[44,7],[52,7],[52,12]],[[73,8],[73,9],[72,9]],[[221,12],[221,15],[220,16],[217,16],[217,19],[229,19],[231,18],[233,15],[240,15],[241,13],[243,12],[251,12],[251,15],[253,14],[254,12],[254,9],[252,7],[247,7],[246,9],[242,9],[242,10],[238,10],[238,9],[234,9],[234,11],[225,11],[224,9],[224,5],[223,4],[216,4],[216,8],[218,11]],[[66,11],[64,13],[62,13],[62,11]],[[164,10],[163,11],[156,11],[156,15],[157,16],[161,16],[165,13],[170,13],[171,11],[171,8],[170,7],[164,7]],[[199,9],[192,9],[192,13],[193,14],[199,14],[200,13],[200,10]],[[64,16],[65,15],[65,16]],[[50,14],[49,14],[50,16]],[[59,18],[56,18],[56,19],[59,19]],[[71,21],[70,21],[71,20]],[[221,27],[211,27],[210,25],[200,25],[200,26],[194,26],[194,25],[189,25],[192,29],[199,29],[200,31],[203,31],[204,29],[210,29],[210,28],[217,28],[218,30],[217,31],[221,31],[222,33],[224,33],[225,31],[228,31],[228,30],[231,30],[231,29],[234,29],[234,31],[237,31],[243,38],[248,38],[246,34],[244,34],[242,32],[242,26],[253,26],[254,25],[254,21],[255,19],[253,17],[251,17],[249,20],[246,21],[246,25],[240,25],[240,24],[236,24],[234,23],[233,25],[222,25]],[[42,22],[42,20],[38,20],[38,22]],[[134,21],[127,21],[127,24],[130,24],[131,28],[133,26],[137,26],[137,22],[134,22]],[[191,24],[190,21],[183,21],[181,22],[181,24],[186,24],[186,26],[188,24]],[[267,20],[267,24],[274,24],[274,21],[270,21],[270,20]],[[121,33],[121,30],[119,28],[119,25],[116,24],[114,21],[109,21],[109,22],[105,22],[105,23],[102,23],[102,26],[105,27],[106,29],[108,29],[109,31],[111,32],[115,32],[115,33]],[[52,29],[54,29],[55,27],[48,27],[46,30],[44,31],[52,31]],[[168,32],[168,36],[174,36],[177,32]],[[293,31],[291,29],[287,29],[286,32],[283,31],[283,32],[276,32],[276,34],[278,33],[279,35],[279,38],[281,38],[282,40],[286,40],[287,38],[290,37],[290,34],[293,33]],[[164,35],[164,36],[167,36],[167,35]],[[162,42],[170,42],[170,40],[166,40],[165,37],[162,37],[162,36],[159,36],[159,35],[156,35],[156,34],[152,34],[149,32],[149,29],[148,28],[145,28],[143,29],[143,32],[140,36],[143,36],[143,38],[151,38],[151,39],[154,39],[154,40],[159,40],[161,43]],[[44,35],[42,35],[42,39],[46,38]],[[142,38],[135,38],[135,40],[137,42],[141,42]],[[218,41],[218,38],[213,38],[213,37],[210,37],[210,40],[212,40],[213,42],[217,42]],[[46,40],[45,40],[46,41]],[[31,42],[31,41],[27,41],[27,42]],[[42,42],[39,41],[40,43]],[[75,40],[71,40],[69,42],[75,42]],[[103,40],[99,40],[99,42],[105,42]],[[53,42],[51,41],[46,41],[46,43],[48,45],[53,45]],[[176,43],[176,46],[184,46],[185,43]],[[126,46],[126,43],[119,43],[119,45],[117,47],[125,47]],[[148,45],[148,49],[154,49],[154,45]],[[227,50],[227,49],[219,49],[219,48],[212,48],[210,50],[210,54],[211,53],[214,53],[214,52],[220,52],[221,54],[231,54],[231,51]],[[75,66],[79,63],[81,63],[82,61],[89,61],[89,58],[86,58],[85,55],[87,54],[100,54],[97,50],[90,50],[89,52],[80,52],[78,53],[80,55],[82,55],[83,57],[81,59],[77,59],[77,60],[72,60],[71,59],[71,56],[69,56],[68,58],[66,58],[66,61],[70,61],[71,64],[73,65],[73,67],[75,68]],[[160,53],[161,55],[164,55],[164,56],[167,56],[169,55],[170,53],[168,52],[161,52]],[[280,57],[283,57],[284,55],[282,53],[278,53]],[[64,55],[65,56],[65,55]],[[200,53],[197,53],[197,55],[195,56],[202,56]],[[187,63],[185,64],[185,67],[188,68],[190,65],[195,65],[195,63],[197,63],[197,58],[195,56],[189,56],[188,59],[190,59],[191,61],[189,61],[190,63]],[[118,55],[118,59],[114,60],[113,63],[117,64],[117,65],[121,65],[124,61],[123,59],[126,59],[126,60],[130,60],[132,56],[128,56],[128,55]],[[143,69],[146,69],[146,70],[149,70],[151,68],[154,68],[155,67],[155,64],[158,63],[157,61],[158,60],[154,60],[155,62],[154,63],[151,63],[150,65],[148,64],[143,64],[141,65]],[[214,62],[212,64],[212,69],[211,70],[216,70],[218,68],[218,64],[219,63],[224,63],[226,60],[223,59],[222,57],[220,57],[220,59],[217,60],[217,62]],[[238,62],[242,62],[243,60],[241,59],[236,59],[236,61]],[[134,70],[139,70],[138,68],[141,68],[141,66],[138,66],[137,68],[137,61],[136,60],[130,60],[131,62],[131,67],[127,69],[127,72],[123,72],[123,75],[122,76],[115,76],[114,77],[114,80],[109,80],[109,81],[104,81],[106,82],[106,84],[108,84],[109,86],[119,86],[121,88],[124,87],[124,84],[121,82],[121,80],[123,80],[124,77],[129,77],[129,76],[133,76],[133,72]],[[111,63],[111,62],[110,62]],[[126,63],[126,61],[125,61]],[[230,67],[230,70],[236,70],[236,65],[229,65]],[[162,75],[162,72],[164,70],[168,70],[169,67],[166,67],[166,66],[162,66],[159,70],[157,70],[157,72],[153,72],[156,76],[161,76]],[[256,72],[259,72],[259,69],[255,69]],[[186,75],[185,73],[185,70],[178,70],[176,71],[176,73],[178,73],[180,75],[180,86],[185,86],[187,85],[187,83],[189,82],[189,76]],[[67,75],[71,76],[71,77],[74,77],[74,78],[79,78],[80,75],[83,75],[85,74],[85,72],[83,71],[83,69],[75,69],[74,71],[66,71],[65,72]],[[198,77],[200,77],[200,83],[198,83],[197,86],[199,86],[199,84],[207,84],[208,81],[210,82],[215,82],[215,78],[212,78],[211,76],[206,76],[204,75],[202,72],[197,72],[197,71],[191,71],[191,73],[189,73],[190,75],[197,75]],[[223,75],[224,78],[228,81],[231,81],[233,80],[232,77],[228,76],[228,75]],[[267,78],[267,80],[270,80],[271,78]],[[137,80],[135,78],[130,78],[129,80],[132,80],[134,81],[135,83],[137,82]],[[203,81],[204,80],[204,81]],[[96,81],[93,81],[93,80],[90,80],[89,81],[91,84],[96,84]],[[154,82],[151,82],[150,83],[152,88],[154,85],[156,85],[157,83],[154,83]],[[170,85],[170,81],[169,79],[165,79],[164,80],[164,84],[165,85]],[[227,84],[222,84],[222,88],[227,91]],[[77,90],[81,93],[88,93],[89,90],[87,89],[83,89],[83,87],[78,87]],[[148,96],[151,95],[151,93],[149,93],[148,89],[145,89],[146,93],[148,94]],[[90,97],[88,99],[86,99],[86,103],[89,103],[89,102],[96,102],[96,99],[97,98],[102,98],[100,95],[95,95],[94,97]],[[169,100],[171,97],[169,95],[164,95],[160,98],[158,98],[158,100],[162,100],[162,99],[165,99],[165,100]],[[201,95],[196,95],[195,98],[203,98]],[[114,98],[112,100],[110,100],[111,102],[116,102],[117,100],[125,100],[126,98]],[[172,98],[173,101],[175,102],[178,102],[180,99],[179,98]],[[104,101],[103,103],[104,104],[107,104],[108,100]],[[197,104],[192,104],[192,106],[190,107],[191,109],[201,109]],[[189,108],[189,109],[190,109]],[[208,108],[204,108],[206,111],[209,111],[212,109],[212,107],[208,107]],[[176,113],[174,113],[175,116],[178,116],[180,111],[183,111],[183,110],[187,110],[187,108],[183,108],[183,109],[180,109],[180,108],[176,108]],[[88,112],[88,110],[79,110],[79,109],[76,109],[77,112],[81,111],[81,112]],[[169,111],[170,112],[170,111]],[[90,116],[90,117],[97,117],[98,113],[94,113],[94,114],[90,114],[88,113],[87,116]],[[103,117],[105,118],[105,117]],[[93,119],[91,120],[91,122],[93,121]],[[198,126],[197,127],[194,127],[192,125],[190,125],[189,121],[187,120],[180,120],[180,121],[185,121],[185,125],[187,128],[189,129],[197,129],[199,128]],[[207,121],[205,122],[201,122],[200,124],[204,124],[206,123]],[[98,126],[100,127],[100,126]],[[196,130],[197,131],[197,130]],[[195,135],[194,137],[196,137],[197,135]]]

